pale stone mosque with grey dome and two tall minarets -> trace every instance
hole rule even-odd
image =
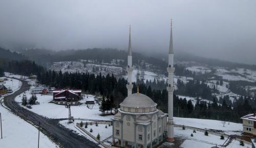
[[[128,65],[126,68],[127,94],[128,96],[120,104],[118,113],[113,120],[113,143],[119,147],[156,147],[159,143],[167,140],[174,141],[173,122],[173,76],[174,76],[174,51],[172,37],[172,22],[170,27],[170,42],[168,54],[168,114],[157,109],[157,104],[148,96],[132,93],[132,44],[131,26],[129,34]],[[168,120],[167,120],[168,115]],[[167,132],[167,135],[166,135]]]

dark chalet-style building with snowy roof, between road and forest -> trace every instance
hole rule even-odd
[[[53,90],[53,102],[59,105],[66,105],[67,102],[71,102],[71,105],[79,105],[81,92],[81,89],[55,89]]]

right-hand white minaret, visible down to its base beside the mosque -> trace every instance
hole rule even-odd
[[[169,43],[169,54],[168,54],[168,138],[167,141],[174,141],[174,49],[173,49],[173,31],[172,31],[172,20],[170,20],[170,43]]]

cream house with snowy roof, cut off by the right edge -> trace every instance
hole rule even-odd
[[[241,117],[243,120],[243,133],[256,136],[256,113]]]

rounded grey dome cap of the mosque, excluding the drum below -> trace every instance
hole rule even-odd
[[[145,94],[133,93],[127,96],[120,104],[120,106],[131,108],[146,108],[157,106],[157,104]]]

